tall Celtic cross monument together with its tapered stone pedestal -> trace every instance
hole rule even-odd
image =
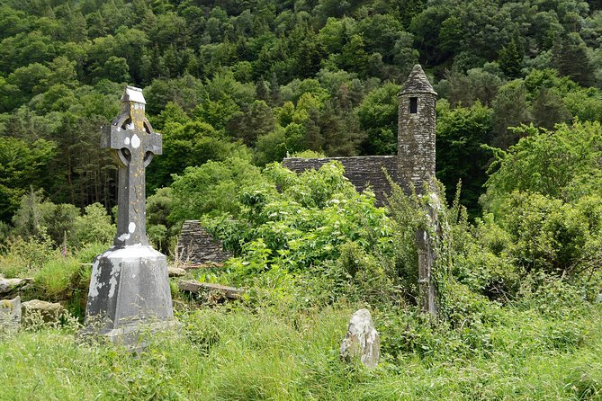
[[[137,342],[140,329],[174,318],[166,256],[148,245],[146,234],[145,168],[161,154],[161,136],[146,119],[145,104],[142,91],[128,86],[121,114],[103,127],[101,147],[119,166],[117,235],[94,260],[85,309],[84,334],[125,344]]]

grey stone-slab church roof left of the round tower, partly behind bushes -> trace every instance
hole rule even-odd
[[[391,185],[389,185],[386,175],[382,172],[382,167],[386,169],[395,182],[400,183],[396,156],[324,157],[317,159],[287,157],[283,160],[283,166],[295,173],[302,173],[310,169],[317,170],[333,160],[340,162],[345,167],[345,176],[355,185],[357,191],[362,192],[370,186],[381,205],[384,204],[384,194],[391,193]]]

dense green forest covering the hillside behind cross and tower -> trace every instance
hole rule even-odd
[[[425,67],[439,94],[437,174],[481,209],[490,147],[533,123],[602,119],[597,1],[2,1],[0,219],[43,189],[82,209],[115,201],[99,127],[143,87],[172,174],[230,156],[394,154],[396,93]],[[483,147],[487,145],[490,147]]]

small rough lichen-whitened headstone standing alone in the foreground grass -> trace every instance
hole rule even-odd
[[[349,321],[341,344],[341,358],[350,361],[359,357],[367,368],[374,368],[381,356],[381,339],[374,328],[368,309],[360,309]]]

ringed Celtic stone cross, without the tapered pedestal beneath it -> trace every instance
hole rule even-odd
[[[142,90],[128,86],[121,96],[121,114],[103,127],[101,147],[111,149],[119,166],[117,236],[114,245],[148,245],[145,168],[162,151],[161,135],[144,115]]]

